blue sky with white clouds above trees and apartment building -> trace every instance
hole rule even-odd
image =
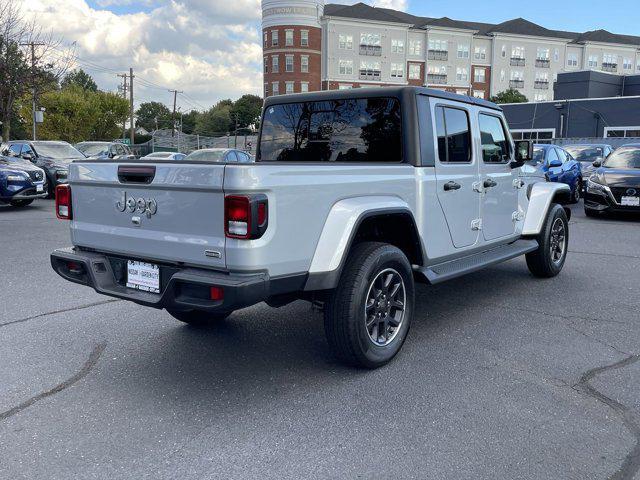
[[[260,0],[18,0],[28,16],[74,45],[76,66],[98,86],[116,91],[118,73],[133,67],[136,104],[170,104],[181,90],[182,111],[204,110],[224,98],[262,94]],[[604,28],[640,35],[638,0],[615,0],[615,14],[584,0],[368,0],[375,6],[429,17],[499,23],[524,17],[547,28]],[[337,0],[336,3],[355,3]],[[515,7],[518,5],[518,8]],[[597,12],[597,13],[596,13]]]

